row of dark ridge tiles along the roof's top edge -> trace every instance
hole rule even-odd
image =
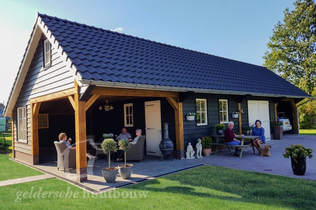
[[[165,46],[168,46],[168,47],[183,49],[183,50],[187,50],[187,51],[191,51],[191,52],[196,52],[196,53],[201,53],[201,54],[205,54],[205,55],[214,56],[214,57],[217,57],[217,58],[222,58],[222,59],[226,59],[226,60],[237,61],[237,62],[240,62],[240,63],[250,64],[250,65],[256,65],[256,66],[259,66],[259,67],[262,67],[262,68],[266,68],[265,66],[262,66],[262,65],[252,64],[252,63],[248,63],[248,62],[240,61],[240,60],[234,60],[234,59],[231,59],[231,58],[225,58],[225,57],[222,57],[222,56],[213,55],[213,54],[209,54],[209,53],[204,53],[204,52],[200,52],[200,51],[193,50],[193,49],[181,48],[181,47],[178,47],[178,46],[175,46],[175,45],[171,45],[171,44],[156,42],[156,41],[153,41],[153,40],[150,40],[150,39],[145,39],[145,38],[141,38],[141,37],[132,36],[132,35],[130,35],[130,34],[120,33],[120,32],[117,32],[117,31],[111,31],[111,30],[108,30],[108,29],[103,29],[103,28],[101,28],[101,27],[90,26],[90,25],[86,25],[86,24],[84,24],[84,23],[77,23],[76,21],[71,21],[71,20],[67,20],[67,19],[62,19],[62,18],[58,18],[58,17],[56,17],[56,16],[53,17],[53,16],[50,16],[50,15],[41,14],[41,13],[38,13],[38,15],[39,15],[39,16],[48,17],[48,18],[52,18],[52,19],[56,19],[56,20],[66,21],[66,22],[68,22],[68,23],[72,23],[72,24],[76,24],[76,25],[80,25],[80,26],[85,26],[85,27],[88,27],[88,28],[100,29],[101,31],[107,31],[107,32],[110,32],[110,33],[121,34],[121,35],[123,35],[123,36],[132,37],[132,38],[137,38],[137,39],[149,41],[149,42],[152,42],[152,43],[165,45]],[[268,69],[268,68],[266,68],[266,69]]]

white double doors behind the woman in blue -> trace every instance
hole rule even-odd
[[[270,139],[269,101],[248,100],[248,120],[251,124],[255,123],[256,120],[261,120],[264,136],[266,139]]]

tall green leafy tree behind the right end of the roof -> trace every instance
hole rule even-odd
[[[263,56],[264,66],[311,94],[316,82],[316,7],[313,0],[296,0],[275,25]]]

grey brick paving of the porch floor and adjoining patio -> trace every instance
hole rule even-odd
[[[307,170],[305,176],[294,175],[291,169],[290,159],[283,157],[285,147],[291,144],[302,144],[306,147],[311,147],[314,150],[314,157],[312,159],[307,158]],[[285,134],[283,135],[282,140],[268,140],[266,145],[272,146],[270,150],[270,157],[261,157],[253,154],[251,147],[243,150],[242,158],[233,156],[234,149],[232,149],[231,152],[229,152],[228,149],[219,151],[216,156],[213,152],[209,157],[203,157],[202,159],[195,158],[190,160],[175,159],[171,161],[166,159],[160,161],[160,157],[158,156],[146,156],[143,162],[128,161],[127,163],[134,165],[131,178],[122,179],[120,175],[118,175],[114,183],[105,182],[102,176],[102,168],[108,166],[107,159],[102,158],[100,160],[96,160],[94,163],[88,162],[88,180],[80,183],[79,185],[81,187],[88,187],[90,190],[98,193],[125,186],[126,184],[137,183],[142,180],[152,179],[153,177],[159,177],[191,167],[197,167],[202,164],[316,180],[316,136]],[[111,166],[118,166],[119,164],[120,163],[111,161]],[[70,171],[68,170],[66,173],[64,173],[62,170],[58,171],[57,162],[55,161],[45,162],[33,167],[62,177],[63,179],[66,179],[72,183],[76,182],[76,169]]]

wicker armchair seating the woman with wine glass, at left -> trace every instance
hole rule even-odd
[[[54,141],[57,150],[57,170],[76,168],[76,150],[68,150],[63,141]]]

